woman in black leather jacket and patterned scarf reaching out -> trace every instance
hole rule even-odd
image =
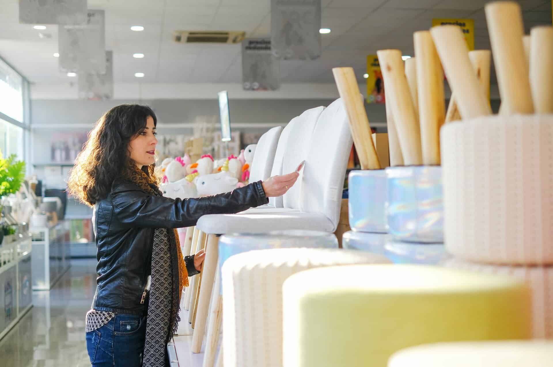
[[[69,179],[69,192],[94,208],[98,278],[86,315],[93,366],[167,365],[182,288],[205,258],[200,251],[183,259],[175,228],[266,204],[298,178],[294,172],[207,198],[165,198],[154,173],[156,121],[142,105],[107,111]]]

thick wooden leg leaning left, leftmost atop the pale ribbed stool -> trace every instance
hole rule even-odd
[[[461,28],[440,25],[430,29],[430,33],[463,119],[490,115],[492,109],[474,73]]]

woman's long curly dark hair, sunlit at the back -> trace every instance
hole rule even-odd
[[[93,206],[106,198],[116,178],[130,177],[135,163],[129,154],[129,142],[146,127],[148,116],[158,120],[154,111],[139,104],[122,104],[107,111],[88,133],[88,140],[72,168],[67,191],[82,203]],[[142,169],[155,177],[155,164]]]

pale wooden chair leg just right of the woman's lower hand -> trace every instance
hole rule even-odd
[[[217,273],[218,244],[219,238],[217,236],[209,235],[207,237],[206,258],[204,260],[204,268],[202,269],[202,273],[204,273],[204,286],[202,286],[199,292],[196,328],[194,329],[194,336],[192,336],[192,353],[200,353],[202,342],[204,341],[207,311],[209,309],[215,273]]]

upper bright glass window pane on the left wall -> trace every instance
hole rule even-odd
[[[23,78],[0,60],[0,112],[23,123]]]

